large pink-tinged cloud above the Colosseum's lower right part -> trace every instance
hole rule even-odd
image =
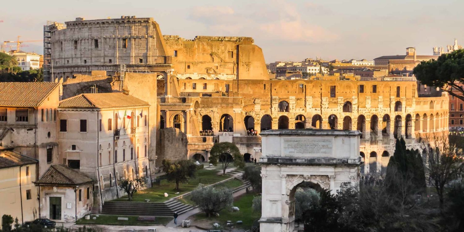
[[[302,43],[338,39],[334,32],[306,21],[300,11],[304,13],[304,9],[289,2],[274,2],[266,7],[253,4],[243,8],[197,6],[192,9],[190,19],[206,26],[208,34],[221,36]]]

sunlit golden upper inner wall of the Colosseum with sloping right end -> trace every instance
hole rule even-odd
[[[264,55],[250,37],[165,35],[166,51],[180,79],[268,79]]]

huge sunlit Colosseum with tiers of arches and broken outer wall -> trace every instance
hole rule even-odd
[[[149,96],[158,100],[157,160],[171,158],[175,152],[168,150],[184,138],[187,154],[180,158],[207,161],[213,144],[227,141],[251,161],[261,156],[263,130],[356,129],[362,132],[361,172],[373,173],[387,166],[395,138],[422,149],[421,137],[448,130],[448,95],[419,97],[414,77],[277,80],[250,37],[162,36],[152,18],[65,24],[50,26],[52,81],[93,70],[117,77],[120,64],[155,73],[147,78],[157,78],[157,96]]]

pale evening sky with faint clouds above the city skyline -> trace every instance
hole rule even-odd
[[[432,55],[464,45],[464,0],[22,0],[0,5],[0,41],[43,39],[47,20],[151,17],[165,35],[247,36],[266,63]],[[40,42],[21,50],[42,54]],[[13,48],[14,49],[14,48]]]

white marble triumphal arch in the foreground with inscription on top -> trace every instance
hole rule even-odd
[[[340,189],[344,182],[359,183],[357,130],[280,129],[261,132],[261,232],[295,230],[295,192],[303,182]]]

